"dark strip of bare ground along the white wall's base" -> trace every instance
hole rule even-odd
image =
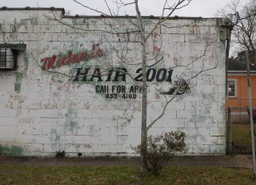
[[[35,165],[35,166],[138,166],[139,159],[134,158],[35,158],[0,156],[0,165]],[[200,167],[248,167],[252,168],[252,156],[180,156],[172,159],[173,166]]]

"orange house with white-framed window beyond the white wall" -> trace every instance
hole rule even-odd
[[[252,107],[256,109],[256,69],[250,65]],[[235,107],[232,111],[233,122],[247,122],[249,119],[246,107],[249,107],[246,64],[233,61],[227,68],[227,107]],[[244,109],[236,109],[238,107]]]

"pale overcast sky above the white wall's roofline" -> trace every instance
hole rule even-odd
[[[97,8],[103,12],[108,11],[105,6],[104,0],[78,0],[83,4],[90,7]],[[111,2],[113,0],[107,0]],[[124,2],[129,2],[123,0]],[[218,10],[225,7],[231,0],[192,0],[188,7],[184,7],[178,12],[174,12],[174,15],[190,16],[190,17],[203,17],[212,18],[216,17]],[[164,0],[139,0],[140,12],[143,15],[159,15],[161,13]],[[76,4],[72,0],[1,0],[0,7],[64,7],[65,10],[71,10],[71,14],[75,15],[95,15],[93,12],[86,10],[84,7]],[[111,10],[115,6],[111,7]],[[126,14],[134,15],[134,8],[125,10]]]

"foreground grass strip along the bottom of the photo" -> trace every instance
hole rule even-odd
[[[252,169],[165,167],[161,175],[139,176],[139,167],[0,166],[0,184],[256,184]]]

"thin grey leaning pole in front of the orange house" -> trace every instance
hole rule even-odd
[[[252,118],[252,92],[251,92],[251,78],[249,70],[249,56],[248,51],[245,51],[246,57],[246,69],[247,69],[247,84],[248,84],[248,94],[249,94],[249,120],[251,124],[251,136],[252,136],[252,161],[253,161],[253,176],[256,178],[256,167],[255,167],[255,135],[253,128],[253,118]]]

